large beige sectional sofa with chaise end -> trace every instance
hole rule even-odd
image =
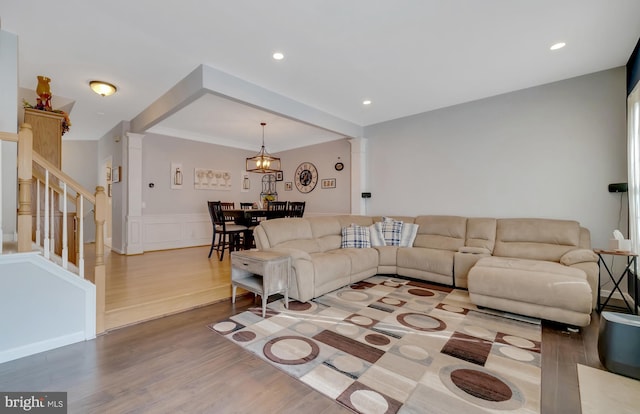
[[[345,229],[354,225],[367,228],[373,240],[374,229],[384,223],[374,216],[267,220],[254,237],[260,250],[291,255],[289,296],[302,302],[375,274],[397,274],[468,288],[479,306],[589,324],[597,303],[598,264],[589,231],[578,222],[439,215],[393,219],[405,230],[413,226],[409,245],[341,247]]]

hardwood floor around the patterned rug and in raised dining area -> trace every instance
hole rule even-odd
[[[142,301],[189,295],[190,287],[228,286],[228,259],[207,253],[109,255],[108,308],[135,312]],[[253,304],[250,296],[235,306],[225,299],[0,364],[0,390],[66,391],[69,413],[351,412],[208,329]],[[542,413],[581,413],[576,364],[602,369],[599,315],[592,319],[578,333],[543,324]]]

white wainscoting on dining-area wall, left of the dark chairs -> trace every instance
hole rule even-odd
[[[143,216],[144,251],[179,249],[211,243],[208,214],[154,214]]]

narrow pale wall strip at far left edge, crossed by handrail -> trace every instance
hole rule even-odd
[[[18,132],[18,37],[0,30],[0,131]],[[13,240],[17,209],[17,144],[0,141],[0,214],[5,240]],[[2,242],[2,240],[0,240]]]

